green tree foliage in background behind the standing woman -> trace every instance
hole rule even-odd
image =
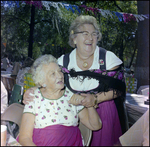
[[[18,8],[7,8],[1,6],[1,35],[2,42],[7,42],[7,51],[16,52],[18,55],[27,56],[30,35],[31,6],[21,5]],[[66,1],[67,4],[80,6],[81,1]],[[126,12],[137,14],[137,1],[85,1],[87,7],[110,10],[115,12]],[[33,34],[33,58],[39,55],[51,53],[56,57],[70,52],[72,48],[68,45],[70,23],[79,15],[75,10],[67,10],[59,5],[58,11],[54,7],[46,10],[35,8],[34,34]],[[105,18],[100,13],[85,11],[80,7],[81,14],[95,16],[100,25],[102,40],[99,46],[113,51],[123,61],[128,62],[135,50],[135,34],[137,22],[120,22],[117,16]],[[12,54],[13,55],[13,54]],[[125,63],[126,64],[126,63]],[[128,64],[128,63],[127,63]],[[126,64],[126,65],[127,65]]]

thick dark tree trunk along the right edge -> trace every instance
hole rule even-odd
[[[149,1],[137,1],[138,14],[149,14]],[[138,22],[138,52],[135,66],[137,88],[149,85],[149,19]]]

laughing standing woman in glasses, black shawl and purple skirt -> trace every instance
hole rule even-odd
[[[101,130],[93,131],[91,146],[113,146],[126,130],[123,114],[123,98],[126,93],[122,61],[111,51],[100,60],[102,48],[97,46],[101,33],[96,19],[89,15],[78,16],[71,24],[69,44],[74,50],[62,55],[58,63],[64,66],[65,84],[73,93],[80,93],[86,108],[97,107],[102,120]],[[101,70],[105,62],[106,69]],[[24,103],[29,98],[24,95]],[[70,103],[78,105],[75,98]],[[117,106],[117,107],[116,107]],[[122,130],[121,130],[122,128]]]

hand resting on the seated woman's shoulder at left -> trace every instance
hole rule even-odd
[[[35,90],[35,87],[34,88],[32,87],[32,88],[27,89],[27,91],[24,93],[24,95],[23,95],[23,103],[24,104],[29,104],[28,103],[29,101],[33,101],[34,96],[32,96],[32,95],[34,94],[34,90]]]

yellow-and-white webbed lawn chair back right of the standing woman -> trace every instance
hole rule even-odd
[[[137,91],[137,79],[132,77],[126,77],[126,92],[136,93]]]

